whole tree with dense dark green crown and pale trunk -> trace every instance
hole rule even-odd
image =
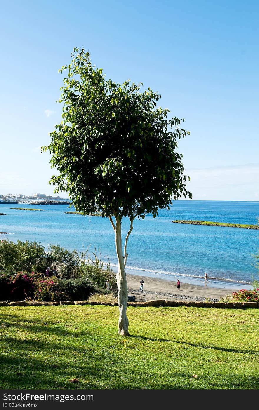
[[[156,108],[158,93],[141,92],[142,83],[105,80],[84,49],[74,48],[71,57],[71,64],[60,70],[68,71],[59,100],[63,121],[42,150],[50,152],[50,164],[59,172],[50,180],[55,193],[66,191],[85,215],[98,210],[110,219],[118,259],[119,334],[128,335],[128,237],[136,217],[155,218],[158,209],[169,209],[172,198],[192,197],[186,191],[182,155],[175,152],[176,139],[186,131],[178,118],[167,119],[168,109]],[[126,217],[130,228],[123,252],[121,223]]]

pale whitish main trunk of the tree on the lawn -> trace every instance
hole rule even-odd
[[[117,285],[118,285],[118,303],[119,303],[119,334],[128,336],[128,318],[127,318],[127,305],[128,305],[128,287],[126,280],[126,273],[124,268],[124,257],[122,254],[121,244],[121,221],[116,218],[115,225],[115,246],[118,259],[118,273],[117,273]]]

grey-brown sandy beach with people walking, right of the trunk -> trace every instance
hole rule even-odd
[[[137,276],[127,273],[128,294],[137,292],[146,295],[146,300],[167,299],[167,300],[200,300],[217,299],[231,294],[236,291],[236,288],[215,288],[210,287],[209,280],[205,285],[190,285],[181,281],[180,291],[176,289],[176,282],[171,280],[163,280],[160,278],[150,278],[148,276]],[[140,280],[144,279],[143,292],[139,292]],[[241,289],[242,287],[240,287]]]

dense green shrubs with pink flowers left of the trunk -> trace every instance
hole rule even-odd
[[[37,242],[0,242],[0,300],[39,301],[85,300],[96,289],[117,291],[115,273],[97,256],[90,259],[86,252],[68,251],[60,245],[50,245],[48,253]],[[46,277],[46,266],[57,266],[58,278]],[[35,269],[36,268],[36,269]],[[18,269],[22,269],[17,273]],[[35,269],[32,271],[32,269]],[[37,272],[37,273],[36,273]]]

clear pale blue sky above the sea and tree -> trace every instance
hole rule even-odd
[[[53,194],[50,132],[74,47],[184,118],[194,200],[259,201],[259,2],[12,1],[1,5],[0,194]],[[66,197],[66,194],[60,194]]]

